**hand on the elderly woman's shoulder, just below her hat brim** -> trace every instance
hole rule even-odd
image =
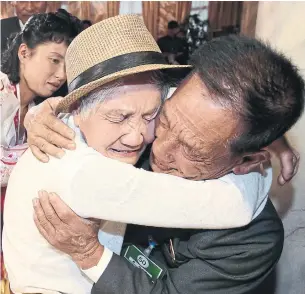
[[[25,116],[28,144],[34,156],[42,162],[49,161],[49,155],[61,158],[62,148],[73,150],[74,131],[56,117],[55,109],[62,97],[49,98],[31,108]]]

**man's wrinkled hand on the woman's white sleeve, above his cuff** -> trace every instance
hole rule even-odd
[[[52,246],[70,255],[82,269],[98,263],[103,254],[98,241],[100,220],[79,217],[58,195],[45,191],[39,192],[33,207],[35,224]]]

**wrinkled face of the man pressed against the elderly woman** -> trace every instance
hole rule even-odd
[[[165,102],[153,143],[151,166],[156,172],[188,179],[218,178],[237,162],[229,139],[237,132],[234,114],[214,102],[197,74]]]

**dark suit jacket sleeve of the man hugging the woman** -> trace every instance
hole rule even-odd
[[[225,216],[224,216],[225,217]],[[270,201],[244,228],[206,230],[178,244],[181,265],[152,283],[114,255],[92,294],[252,293],[272,271],[283,248],[283,226]]]

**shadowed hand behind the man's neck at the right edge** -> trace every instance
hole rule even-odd
[[[280,160],[281,172],[277,181],[283,186],[298,172],[300,154],[289,145],[285,137],[274,141],[267,149]]]

